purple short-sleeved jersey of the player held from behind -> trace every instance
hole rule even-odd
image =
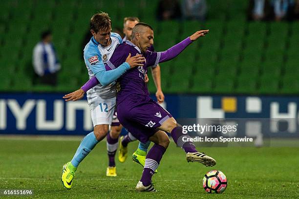
[[[132,42],[120,44],[114,51],[112,57],[107,61],[106,70],[112,70],[126,61],[128,54],[131,56],[142,54],[140,49]],[[130,69],[117,80],[117,103],[125,100],[128,95],[138,94],[149,98],[148,88],[144,82],[148,66],[156,66],[160,60],[160,53],[147,51],[143,56],[146,59],[143,66]]]

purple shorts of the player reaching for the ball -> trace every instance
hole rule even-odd
[[[171,114],[162,108],[149,96],[129,95],[117,105],[118,119],[120,123],[136,139],[147,142],[153,136],[157,128],[169,118]]]

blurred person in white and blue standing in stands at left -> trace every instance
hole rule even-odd
[[[43,84],[56,85],[57,72],[61,65],[58,61],[54,45],[52,43],[52,33],[50,30],[44,31],[41,41],[33,49],[33,67],[36,79]],[[34,83],[37,81],[34,80]]]

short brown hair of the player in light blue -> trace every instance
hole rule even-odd
[[[105,12],[97,13],[90,19],[90,30],[93,30],[95,33],[100,30],[107,30],[111,25],[111,19]]]

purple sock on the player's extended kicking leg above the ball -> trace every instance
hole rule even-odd
[[[192,141],[183,141],[184,137],[190,138],[190,136],[188,134],[183,133],[182,127],[177,126],[177,127],[173,128],[171,131],[171,137],[172,137],[173,141],[176,143],[176,145],[181,147],[182,149],[184,149],[184,151],[186,153],[197,152],[195,149],[195,145]]]

